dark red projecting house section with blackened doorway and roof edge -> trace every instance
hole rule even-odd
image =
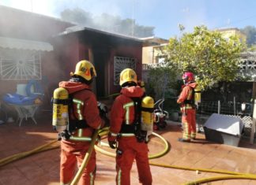
[[[142,41],[106,31],[79,26],[66,28],[55,37],[55,52],[59,63],[58,74],[68,78],[77,61],[86,59],[95,65],[97,77],[94,91],[98,98],[119,92],[119,74],[133,68],[141,79]]]

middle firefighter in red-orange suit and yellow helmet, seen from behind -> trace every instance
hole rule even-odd
[[[145,95],[137,86],[137,75],[131,68],[120,73],[120,95],[115,98],[111,108],[110,132],[108,143],[116,148],[116,184],[130,185],[130,170],[134,159],[137,164],[139,181],[144,185],[152,184],[149,168],[149,149],[145,137],[136,129],[137,105]]]

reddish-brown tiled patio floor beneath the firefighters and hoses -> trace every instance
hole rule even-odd
[[[17,123],[0,125],[0,159],[20,154],[42,146],[56,139],[51,129],[51,114],[37,113],[34,124],[24,120],[21,127]],[[164,157],[151,162],[190,168],[221,169],[232,172],[256,173],[256,145],[250,145],[248,139],[241,139],[239,147],[216,144],[205,141],[205,135],[198,134],[198,140],[190,143],[177,142],[181,128],[177,124],[168,124],[164,131],[157,132],[171,143],[171,150]],[[160,139],[149,143],[150,154],[164,149]],[[58,183],[59,150],[47,150],[13,161],[0,167],[0,185],[55,185]],[[195,179],[221,174],[187,171],[175,168],[151,166],[153,184],[183,184]],[[97,173],[95,184],[115,184],[115,159],[97,152]],[[137,169],[131,172],[131,184],[137,185]],[[212,182],[211,184],[256,184],[249,179],[232,179]]]

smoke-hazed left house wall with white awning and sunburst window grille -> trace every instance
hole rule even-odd
[[[0,95],[17,92],[17,85],[28,80],[46,86],[54,82],[48,70],[56,62],[52,35],[70,26],[52,17],[0,6]]]

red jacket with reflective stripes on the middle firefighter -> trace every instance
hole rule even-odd
[[[116,135],[119,134],[122,123],[134,123],[134,101],[131,98],[140,98],[143,94],[144,91],[141,87],[123,87],[120,95],[115,98],[110,114],[110,133],[114,137],[112,139],[115,139]]]

